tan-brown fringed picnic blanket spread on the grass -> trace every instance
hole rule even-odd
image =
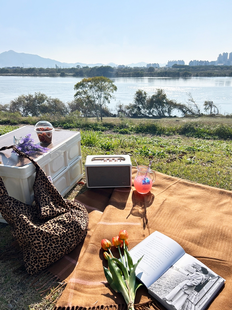
[[[136,169],[132,172],[135,177]],[[103,265],[107,266],[107,261],[101,249],[101,239],[111,240],[121,229],[129,233],[129,249],[156,230],[177,241],[186,253],[226,279],[208,309],[231,310],[232,192],[157,172],[148,194],[137,193],[133,186],[115,188],[110,199],[105,198],[109,199],[106,207],[98,198],[93,191],[77,197],[89,212],[89,232],[56,310],[127,308],[122,295],[105,279]],[[117,256],[116,250],[114,254]],[[148,307],[165,309],[142,287],[137,291],[135,308]]]

